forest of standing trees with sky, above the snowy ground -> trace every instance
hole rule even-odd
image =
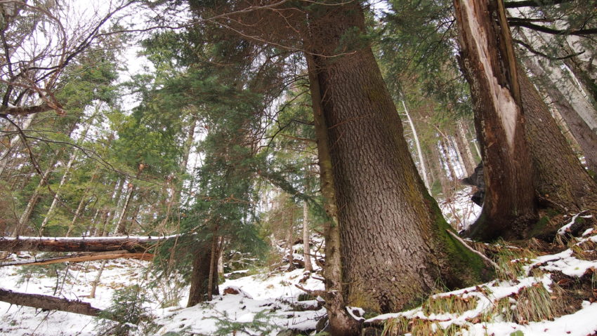
[[[4,258],[153,260],[192,307],[224,265],[286,255],[323,267],[329,332],[357,335],[346,306],[494,276],[456,232],[551,243],[597,210],[595,1],[0,9]]]

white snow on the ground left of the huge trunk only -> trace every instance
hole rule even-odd
[[[295,254],[302,260],[302,255]],[[60,294],[70,300],[79,299],[90,302],[92,307],[105,309],[110,306],[114,290],[127,285],[139,283],[144,286],[145,271],[149,262],[135,260],[115,260],[107,262],[96,290],[96,298],[89,299],[89,291],[96,278],[101,262],[88,262],[72,265],[69,276],[60,278],[50,276],[32,276],[19,283],[21,276],[18,267],[1,267],[1,288],[20,293],[55,295],[58,281]],[[315,262],[313,262],[315,264]],[[240,272],[235,272],[240,273]],[[64,281],[64,284],[63,284]],[[280,330],[314,330],[317,321],[325,315],[322,304],[313,297],[301,297],[306,294],[296,288],[295,284],[308,290],[322,290],[323,283],[305,274],[303,269],[294,271],[277,271],[244,276],[235,280],[227,280],[220,285],[223,295],[214,300],[195,307],[183,308],[188,300],[188,287],[183,288],[183,296],[176,307],[159,308],[161,297],[151,296],[147,303],[155,323],[163,325],[155,331],[155,335],[167,332],[192,332],[201,335],[212,335],[221,324],[242,323],[250,335],[277,335]],[[159,293],[159,290],[156,291]],[[238,293],[238,294],[235,294]],[[181,306],[182,305],[182,306]],[[261,322],[262,325],[259,323]],[[62,311],[40,311],[30,307],[11,306],[0,302],[0,335],[96,335],[96,321],[91,316],[70,314]],[[270,330],[263,334],[262,332]],[[237,335],[242,335],[241,333]]]

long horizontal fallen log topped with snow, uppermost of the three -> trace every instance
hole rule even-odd
[[[107,252],[127,250],[143,253],[155,244],[173,236],[119,236],[119,237],[0,237],[0,251],[41,252]]]

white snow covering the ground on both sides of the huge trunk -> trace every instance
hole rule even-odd
[[[471,288],[440,293],[436,298],[459,297],[461,300],[473,302],[466,311],[454,313],[450,311],[429,312],[422,307],[396,314],[384,314],[370,318],[366,323],[379,323],[388,318],[410,318],[410,321],[430,321],[438,327],[456,326],[447,335],[481,336],[481,335],[593,335],[597,332],[597,302],[582,302],[582,307],[572,314],[553,318],[553,321],[515,323],[505,321],[497,312],[499,302],[510,302],[511,309],[518,304],[515,300],[524,288],[542,287],[551,293],[556,280],[553,274],[565,274],[572,278],[591,274],[597,269],[597,260],[584,260],[579,250],[587,246],[594,250],[597,243],[597,230],[587,229],[580,238],[569,243],[567,250],[551,255],[541,255],[527,260],[523,275],[515,279],[494,280]],[[318,244],[317,244],[318,245]],[[296,246],[298,249],[300,246]],[[594,255],[594,252],[593,252]],[[294,255],[296,260],[301,255]],[[586,259],[586,258],[585,258]],[[591,258],[589,258],[591,259]],[[593,258],[594,259],[594,258]],[[520,262],[520,260],[518,260]],[[313,263],[315,264],[315,263]],[[1,288],[22,293],[41,293],[53,295],[58,283],[59,297],[91,302],[93,307],[105,309],[111,304],[114,290],[126,285],[139,283],[147,288],[146,268],[149,262],[135,260],[115,260],[107,262],[103,272],[101,285],[96,298],[87,297],[92,281],[96,278],[100,262],[72,264],[68,276],[61,271],[58,278],[52,276],[32,276],[27,281],[18,283],[20,276],[18,267],[0,267]],[[540,270],[538,272],[537,270]],[[254,269],[236,271],[236,276],[250,274]],[[593,288],[597,284],[593,273]],[[322,290],[321,275],[305,274],[303,269],[284,271],[284,267],[276,271],[263,269],[261,273],[242,276],[234,280],[226,280],[220,285],[222,295],[217,295],[211,302],[204,302],[195,307],[185,308],[187,297],[183,295],[178,305],[161,308],[162,300],[159,290],[149,295],[146,306],[155,316],[153,321],[157,328],[150,335],[278,335],[282,330],[305,330],[313,332],[317,321],[325,315],[321,300],[305,295],[296,287],[300,285],[308,290]],[[165,285],[171,285],[167,283]],[[188,295],[188,288],[181,288],[181,293]],[[557,295],[557,294],[552,294]],[[597,295],[597,294],[595,294]],[[299,299],[301,301],[299,301]],[[319,299],[319,298],[318,298]],[[353,308],[353,309],[356,309]],[[351,310],[353,310],[351,309]],[[228,328],[228,329],[226,329]],[[435,327],[434,327],[435,328]],[[244,332],[242,332],[244,330]],[[519,332],[520,331],[520,332]],[[11,306],[0,302],[0,335],[81,335],[97,334],[94,318],[60,311],[39,311],[29,307]],[[441,334],[440,334],[441,335]]]

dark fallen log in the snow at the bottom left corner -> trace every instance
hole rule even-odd
[[[89,302],[62,299],[60,297],[54,297],[50,295],[18,293],[13,292],[12,290],[5,290],[1,288],[0,301],[8,302],[10,304],[17,304],[19,306],[67,311],[68,313],[94,317],[100,316],[100,313],[102,312],[101,309],[91,307]]]

